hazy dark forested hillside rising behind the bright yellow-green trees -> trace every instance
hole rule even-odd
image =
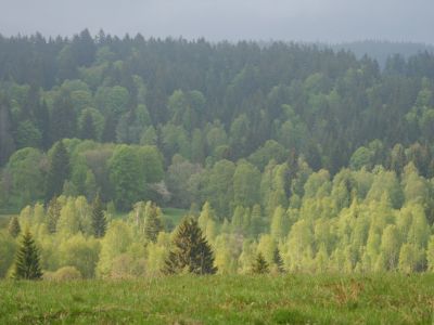
[[[0,37],[0,80],[3,207],[65,188],[84,194],[86,181],[115,199],[107,161],[115,164],[113,152],[136,150],[113,143],[163,157],[145,183],[165,180],[174,205],[192,199],[174,194],[182,191],[170,187],[170,171],[191,176],[241,158],[259,172],[270,160],[332,176],[378,165],[399,176],[409,162],[425,178],[434,171],[434,55],[427,52],[394,55],[380,69],[368,56],[308,44],[84,30],[72,39]],[[73,157],[60,184],[47,188],[54,150],[48,151],[62,139],[74,139],[65,142]],[[22,172],[30,166],[37,170]],[[132,196],[119,207],[141,198]]]

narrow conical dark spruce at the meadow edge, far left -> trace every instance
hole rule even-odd
[[[30,232],[27,230],[15,258],[13,278],[16,280],[39,280],[42,271],[39,265],[39,252]]]

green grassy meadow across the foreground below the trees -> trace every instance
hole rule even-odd
[[[0,282],[0,324],[433,324],[434,274]]]

